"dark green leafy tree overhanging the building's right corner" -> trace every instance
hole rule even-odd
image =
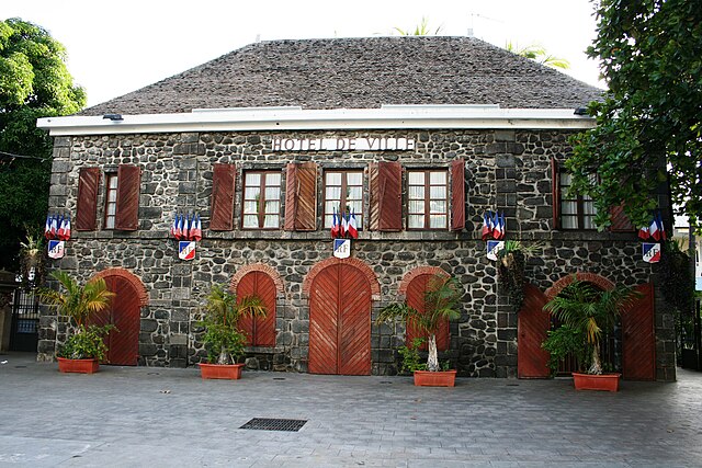
[[[609,91],[589,104],[597,127],[573,139],[566,167],[573,191],[588,194],[596,222],[624,203],[638,227],[650,221],[655,193],[700,228],[702,214],[702,8],[699,0],[600,0],[588,55],[601,60]],[[597,173],[597,180],[591,174]]]

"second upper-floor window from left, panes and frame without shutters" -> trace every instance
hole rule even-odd
[[[281,172],[251,171],[244,176],[244,229],[281,227]]]

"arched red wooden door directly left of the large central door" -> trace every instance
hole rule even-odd
[[[265,306],[265,317],[242,317],[239,328],[247,335],[247,346],[275,346],[275,284],[263,272],[244,275],[237,285],[237,298],[256,295]]]

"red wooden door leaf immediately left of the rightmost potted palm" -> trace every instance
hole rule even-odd
[[[546,296],[534,285],[524,286],[524,304],[517,315],[517,376],[546,378],[548,353],[541,347],[551,328],[551,316],[544,312]]]

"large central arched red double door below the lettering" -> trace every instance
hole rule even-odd
[[[371,374],[371,285],[354,266],[327,266],[309,296],[312,374]]]

